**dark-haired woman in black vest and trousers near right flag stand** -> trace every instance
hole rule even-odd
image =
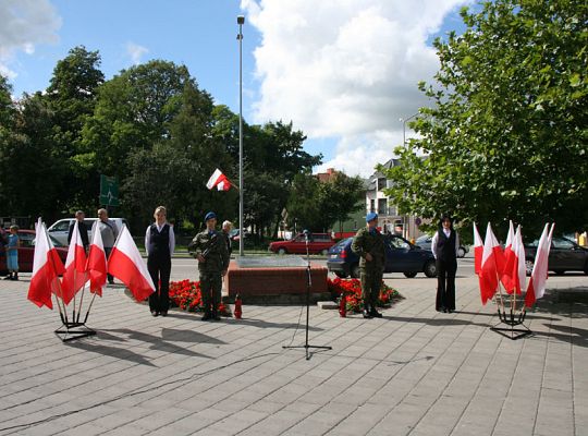
[[[455,272],[460,237],[453,229],[453,220],[443,215],[431,241],[431,251],[437,261],[437,312],[455,311]]]

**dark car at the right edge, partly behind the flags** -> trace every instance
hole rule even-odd
[[[539,240],[525,244],[527,276],[530,276],[537,255]],[[588,249],[576,244],[567,238],[553,237],[549,250],[548,269],[558,275],[565,271],[584,271],[588,275]]]

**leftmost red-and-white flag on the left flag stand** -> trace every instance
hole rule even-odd
[[[63,263],[51,243],[47,229],[39,218],[36,226],[33,276],[28,286],[28,300],[42,307],[53,308],[51,292],[59,295],[59,275],[63,274]]]

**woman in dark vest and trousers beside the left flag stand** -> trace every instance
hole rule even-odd
[[[173,227],[166,220],[167,215],[166,207],[158,206],[154,213],[156,222],[145,232],[147,268],[156,287],[156,291],[149,295],[152,316],[168,316],[170,308],[171,256],[175,249],[175,234]]]

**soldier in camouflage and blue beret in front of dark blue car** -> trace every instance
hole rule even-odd
[[[376,310],[385,262],[383,235],[378,231],[378,214],[366,216],[367,226],[360,229],[353,239],[352,250],[360,257],[362,298],[364,299],[364,318],[381,318]]]

